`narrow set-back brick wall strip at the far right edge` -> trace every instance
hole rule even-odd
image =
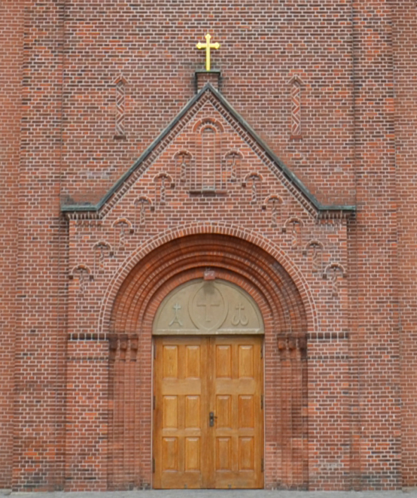
[[[395,139],[398,189],[399,304],[402,366],[402,479],[417,485],[416,404],[416,3],[394,2]]]

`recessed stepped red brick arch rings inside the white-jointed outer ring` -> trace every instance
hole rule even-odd
[[[120,286],[109,332],[132,334],[149,329],[168,292],[182,282],[203,277],[206,268],[259,299],[264,320],[275,332],[306,333],[305,306],[285,269],[254,244],[216,234],[188,235],[166,242],[139,261]]]

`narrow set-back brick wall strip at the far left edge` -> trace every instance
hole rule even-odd
[[[0,4],[0,488],[13,468],[13,356],[15,347],[18,250],[18,167],[23,47],[23,5]]]

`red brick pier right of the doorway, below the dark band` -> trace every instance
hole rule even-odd
[[[309,341],[309,490],[351,488],[349,337],[330,337]]]

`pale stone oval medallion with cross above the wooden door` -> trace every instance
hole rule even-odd
[[[204,282],[189,301],[189,316],[197,328],[215,330],[222,325],[227,314],[223,294],[212,281]]]

